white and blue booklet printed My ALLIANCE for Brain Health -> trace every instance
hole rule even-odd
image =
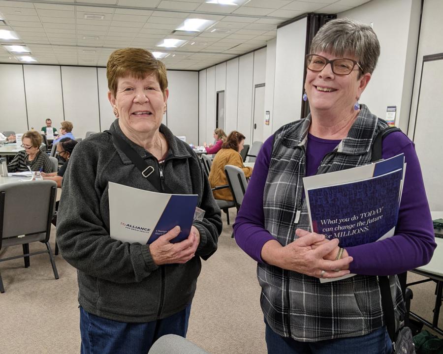
[[[152,243],[175,226],[188,238],[198,202],[196,194],[151,192],[108,182],[110,236],[122,242]]]

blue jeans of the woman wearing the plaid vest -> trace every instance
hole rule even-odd
[[[275,333],[266,321],[265,324],[268,354],[390,354],[392,351],[386,327],[359,337],[307,343],[282,337]]]

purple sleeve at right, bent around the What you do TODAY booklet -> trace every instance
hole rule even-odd
[[[406,174],[395,235],[373,243],[347,247],[351,273],[392,275],[423,266],[437,246],[431,212],[414,145],[402,132],[383,140],[382,157],[405,154]],[[389,261],[388,261],[389,260]]]

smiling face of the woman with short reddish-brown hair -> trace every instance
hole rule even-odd
[[[127,76],[118,80],[115,97],[108,92],[108,98],[117,107],[123,132],[142,138],[160,126],[168,93],[166,89],[163,94],[154,74],[144,79]]]

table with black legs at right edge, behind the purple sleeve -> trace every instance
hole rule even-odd
[[[443,211],[431,211],[432,220],[442,219]],[[436,291],[435,291],[435,304],[434,304],[434,315],[432,322],[425,320],[424,318],[418,316],[417,314],[410,312],[410,316],[426,324],[428,327],[435,330],[440,335],[443,335],[443,329],[439,327],[439,316],[440,308],[442,305],[442,293],[443,293],[443,229],[434,229],[436,234],[435,242],[437,243],[437,248],[434,251],[431,262],[425,266],[421,266],[411,270],[411,272],[425,276],[428,279],[419,280],[413,283],[407,284],[408,287],[412,285],[417,285],[429,281],[436,281]]]

